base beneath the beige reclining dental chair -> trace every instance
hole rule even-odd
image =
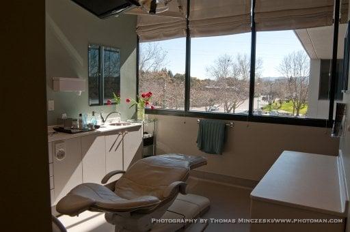
[[[207,223],[200,222],[199,217],[208,211],[209,199],[196,194],[178,194],[178,197],[170,204],[170,206],[164,205],[166,210],[163,216],[147,214],[139,215],[139,217],[128,217],[127,215],[106,213],[105,218],[107,222],[116,225],[116,232],[169,232],[186,231],[187,228],[191,231],[204,231]]]

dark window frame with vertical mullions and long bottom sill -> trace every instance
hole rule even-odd
[[[146,113],[150,115],[172,115],[182,117],[200,117],[208,119],[222,119],[222,120],[234,120],[234,121],[252,121],[268,124],[287,124],[296,126],[312,126],[322,128],[332,128],[333,114],[334,114],[334,100],[336,94],[336,65],[337,65],[337,50],[338,50],[338,27],[339,27],[339,13],[340,13],[340,0],[335,1],[335,14],[334,14],[334,33],[333,33],[333,54],[332,54],[332,72],[331,83],[329,88],[329,117],[328,119],[313,119],[313,118],[301,118],[301,117],[281,117],[272,115],[254,115],[254,90],[255,90],[255,63],[256,63],[256,28],[254,21],[254,8],[256,0],[252,0],[252,40],[251,40],[251,55],[250,55],[250,95],[249,95],[249,110],[248,114],[239,113],[213,113],[202,111],[189,111],[190,104],[190,70],[191,70],[191,36],[189,34],[189,20],[186,20],[186,61],[185,61],[185,109],[184,111],[171,110],[171,109],[146,109]],[[189,8],[190,0],[187,0],[187,9]],[[187,11],[186,18],[189,18],[189,11]],[[139,91],[139,38],[137,36],[137,55],[136,55],[136,93]]]

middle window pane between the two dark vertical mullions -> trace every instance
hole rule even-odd
[[[191,111],[248,113],[251,33],[191,39]]]

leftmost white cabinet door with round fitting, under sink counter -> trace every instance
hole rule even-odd
[[[53,143],[53,182],[55,205],[75,186],[83,182],[81,139],[67,139]]]

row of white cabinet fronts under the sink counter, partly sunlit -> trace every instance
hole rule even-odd
[[[56,205],[75,186],[100,184],[106,173],[126,170],[141,158],[141,126],[49,142],[51,205]]]

